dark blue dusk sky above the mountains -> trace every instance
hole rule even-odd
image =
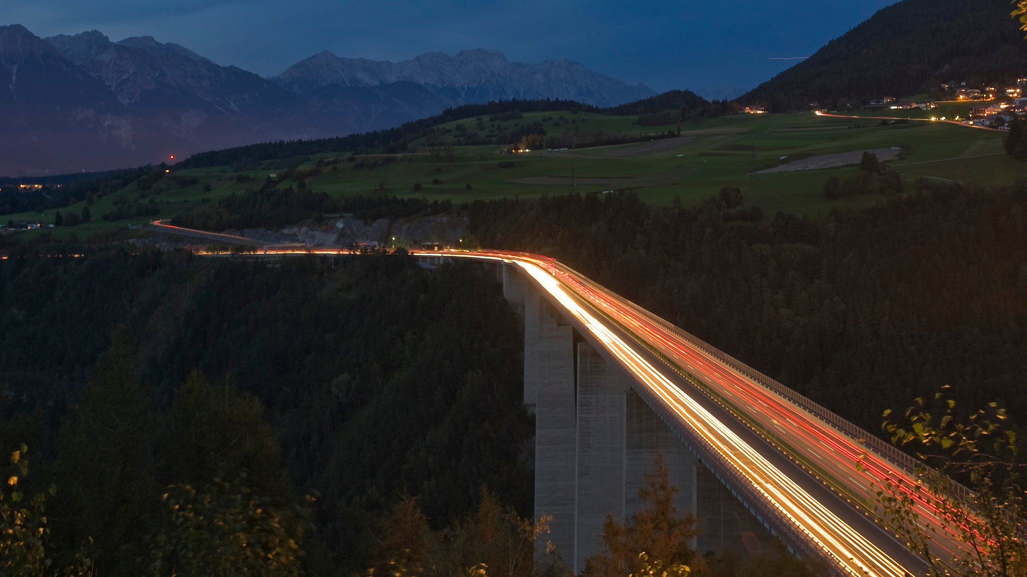
[[[3,0],[40,36],[153,36],[275,75],[321,50],[398,61],[426,51],[565,57],[656,90],[751,88],[896,0]]]

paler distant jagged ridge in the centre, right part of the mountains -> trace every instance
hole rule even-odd
[[[528,65],[484,49],[461,50],[452,56],[428,52],[400,63],[345,59],[324,51],[293,65],[273,80],[300,93],[331,84],[381,86],[408,81],[461,103],[551,98],[610,107],[656,93],[645,84],[629,86],[568,60]]]

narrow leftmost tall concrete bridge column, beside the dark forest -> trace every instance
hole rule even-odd
[[[551,517],[549,535],[536,543],[535,555],[545,552],[548,540],[572,563],[576,486],[573,329],[547,301],[533,300],[539,302],[534,344],[538,354],[535,518]],[[526,349],[531,346],[525,343]]]

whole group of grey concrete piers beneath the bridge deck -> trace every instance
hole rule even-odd
[[[580,337],[533,282],[502,267],[503,294],[524,319],[524,403],[535,415],[535,518],[575,574],[601,552],[608,514],[645,506],[639,489],[663,457],[679,512],[698,517],[698,554],[756,553],[770,538],[755,516],[631,388],[618,367]]]

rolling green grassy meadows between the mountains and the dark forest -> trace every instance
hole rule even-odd
[[[467,131],[480,130],[483,137],[488,137],[536,121],[550,134],[573,130],[575,126],[582,132],[603,130],[621,134],[676,128],[638,126],[633,117],[570,112],[529,113],[524,118],[506,121],[485,117],[482,123],[469,118],[459,123]],[[443,126],[455,133],[456,124]],[[946,123],[881,125],[870,119],[796,113],[725,116],[687,121],[681,128],[681,138],[668,141],[525,154],[501,154],[497,145],[461,146],[456,147],[452,159],[436,160],[430,154],[418,152],[394,155],[394,161],[388,164],[380,163],[382,156],[350,160],[349,154],[320,154],[310,157],[299,169],[309,170],[320,161],[321,172],[308,178],[306,185],[333,195],[380,194],[454,202],[634,189],[654,205],[670,204],[675,197],[688,205],[717,194],[722,187],[734,186],[743,190],[747,204],[760,206],[764,213],[781,210],[810,217],[825,215],[832,206],[864,206],[879,199],[861,196],[830,201],[823,197],[821,191],[829,177],[844,179],[854,174],[853,167],[764,175],[754,175],[753,169],[824,154],[901,147],[901,158],[889,164],[910,181],[931,177],[998,186],[1012,183],[1024,172],[1023,164],[1002,153],[1001,133]],[[272,174],[283,175],[279,164],[269,161],[259,169],[241,174],[228,166],[183,170],[173,167],[172,174],[150,190],[142,191],[131,185],[93,203],[89,207],[93,219],[89,226],[124,228],[216,204],[230,194],[259,186]],[[186,179],[197,182],[189,184]],[[286,179],[276,186],[296,184]],[[118,203],[151,199],[157,203],[157,217],[102,220]],[[82,206],[80,202],[64,211],[80,211]],[[3,215],[0,222],[52,222],[52,218],[53,210],[49,210],[42,216]]]

